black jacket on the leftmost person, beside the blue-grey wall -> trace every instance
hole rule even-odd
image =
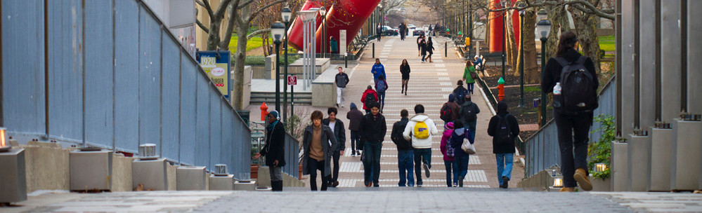
[[[266,145],[259,153],[266,156],[266,165],[273,166],[273,162],[278,160],[278,167],[285,166],[285,128],[282,122],[278,121],[273,126],[273,131],[266,132]]]

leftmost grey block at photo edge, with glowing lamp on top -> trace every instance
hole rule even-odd
[[[27,200],[25,149],[0,152],[0,202]]]

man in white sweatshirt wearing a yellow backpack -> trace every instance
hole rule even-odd
[[[415,106],[415,116],[410,118],[405,131],[402,133],[405,139],[412,139],[412,148],[415,153],[415,174],[417,175],[417,187],[422,186],[422,163],[424,172],[429,177],[431,169],[431,135],[438,135],[436,124],[431,118],[424,114],[424,106]]]

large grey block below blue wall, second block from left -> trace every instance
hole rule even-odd
[[[71,191],[112,190],[112,151],[74,150],[69,159]]]

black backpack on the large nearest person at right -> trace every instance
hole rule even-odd
[[[568,62],[563,57],[554,57],[563,67],[561,71],[561,108],[570,111],[586,111],[597,108],[597,79],[585,68],[585,55],[576,62]]]

